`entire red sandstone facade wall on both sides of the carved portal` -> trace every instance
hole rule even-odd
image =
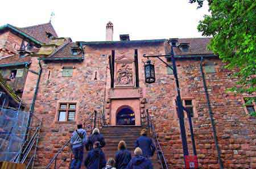
[[[82,63],[49,63],[43,64],[35,114],[43,118],[43,126],[39,149],[37,151],[37,166],[46,166],[49,159],[63,143],[68,140],[76,123],[55,122],[57,103],[60,100],[76,100],[79,103],[77,122],[88,117],[88,112],[94,109],[100,111],[109,108],[108,89],[110,75],[108,54],[115,49],[115,56],[119,54],[134,55],[138,49],[139,82],[143,95],[147,99],[146,108],[154,116],[156,129],[159,134],[164,154],[170,168],[183,167],[183,151],[180,140],[179,121],[174,108],[176,96],[173,75],[167,75],[166,66],[154,59],[156,69],[156,83],[144,83],[143,54],[164,54],[162,45],[141,47],[85,47],[85,60]],[[104,54],[104,55],[103,55]],[[256,168],[256,119],[245,115],[241,96],[226,93],[225,90],[234,84],[233,79],[218,61],[216,74],[206,74],[210,101],[217,126],[217,134],[224,158],[225,168]],[[36,58],[32,60],[31,69],[37,70]],[[200,75],[200,62],[195,60],[177,61],[182,98],[192,98],[196,103],[197,117],[193,119],[195,140],[200,167],[218,168],[217,153],[214,147],[212,129],[209,121],[207,103],[204,94],[203,81]],[[72,78],[62,77],[63,66],[75,66]],[[51,71],[48,79],[49,71]],[[97,71],[97,80],[94,80]],[[30,103],[37,76],[28,73],[23,100]],[[106,96],[105,96],[106,84]],[[105,102],[104,105],[104,96]],[[141,107],[144,107],[142,104]],[[108,117],[108,109],[106,116]],[[188,123],[188,122],[187,122]],[[186,128],[188,129],[188,124]],[[189,153],[192,153],[189,130],[187,130]],[[68,157],[68,154],[65,154]]]

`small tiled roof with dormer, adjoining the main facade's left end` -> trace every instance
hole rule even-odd
[[[65,43],[62,47],[59,48],[55,53],[51,54],[49,57],[82,57],[82,51],[79,50],[77,55],[72,55],[71,47],[77,45],[73,42]]]

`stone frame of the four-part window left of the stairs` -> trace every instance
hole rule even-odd
[[[66,115],[65,115],[65,121],[59,121],[59,112],[64,109],[60,109],[61,104],[67,104],[67,107],[69,107],[69,104],[76,104],[76,109],[65,109]],[[75,111],[75,120],[74,121],[68,121],[68,111]],[[55,113],[55,123],[76,123],[77,122],[77,115],[79,113],[79,102],[77,100],[60,100],[57,102],[56,107],[56,113]]]

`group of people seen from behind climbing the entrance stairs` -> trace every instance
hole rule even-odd
[[[102,147],[105,146],[105,139],[100,130],[95,128],[87,137],[86,130],[82,129],[82,125],[77,125],[77,130],[73,132],[71,137],[71,148],[73,152],[73,160],[71,169],[79,169],[82,165],[84,147],[88,152],[84,165],[87,169],[152,169],[150,158],[155,153],[155,146],[151,138],[147,137],[147,130],[142,129],[141,136],[135,142],[134,157],[127,150],[126,142],[118,143],[118,151],[114,158],[109,158],[106,162]]]

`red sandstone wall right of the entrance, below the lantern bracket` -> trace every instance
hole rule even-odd
[[[225,168],[255,168],[255,122],[245,114],[241,96],[225,90],[232,87],[236,79],[216,62],[217,73],[205,74],[210,102],[217,127],[217,136]],[[196,118],[193,118],[199,165],[202,168],[218,168],[217,152],[214,146],[212,126],[205,99],[203,81],[200,75],[200,61],[177,61],[181,98],[195,99]],[[156,61],[156,83],[147,85],[147,108],[155,116],[155,124],[162,142],[164,154],[170,167],[181,168],[183,151],[181,147],[179,121],[174,109],[176,97],[173,75],[167,75],[163,64]],[[186,121],[189,153],[192,145]]]

